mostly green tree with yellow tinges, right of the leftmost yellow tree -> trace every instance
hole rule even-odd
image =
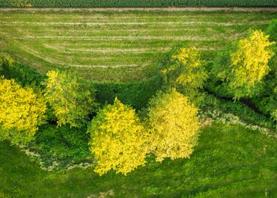
[[[94,110],[95,90],[89,90],[86,83],[70,71],[48,71],[47,77],[45,97],[54,110],[57,124],[80,127]]]

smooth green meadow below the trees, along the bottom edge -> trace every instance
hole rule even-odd
[[[206,127],[190,159],[149,163],[129,175],[41,170],[0,143],[0,197],[277,197],[277,139],[236,125]]]

